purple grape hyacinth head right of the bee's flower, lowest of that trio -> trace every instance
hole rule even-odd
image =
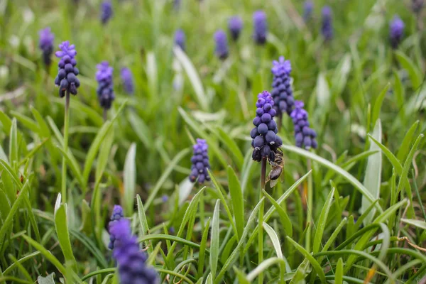
[[[295,126],[295,141],[296,146],[309,150],[311,147],[316,149],[318,144],[315,140],[317,133],[315,130],[309,127],[309,121],[307,120],[307,111],[303,109],[305,104],[301,101],[295,102],[295,109],[290,114],[293,119],[293,125]]]

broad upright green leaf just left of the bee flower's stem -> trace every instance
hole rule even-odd
[[[229,182],[229,193],[231,193],[232,209],[235,217],[236,231],[238,232],[237,239],[241,238],[244,231],[244,197],[241,191],[241,185],[236,173],[228,166],[228,182]]]

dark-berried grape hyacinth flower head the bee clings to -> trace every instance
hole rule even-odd
[[[251,146],[254,148],[252,158],[260,162],[262,158],[275,160],[277,148],[283,145],[278,133],[277,124],[273,117],[277,114],[273,109],[273,99],[269,92],[263,91],[258,94],[256,102],[256,117],[253,119],[254,128],[250,131],[253,139]]]

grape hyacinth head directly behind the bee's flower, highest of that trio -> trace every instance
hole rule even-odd
[[[278,61],[273,61],[272,67],[273,82],[272,82],[272,97],[273,108],[277,111],[278,116],[282,116],[285,112],[290,115],[295,104],[293,97],[293,89],[290,85],[290,60],[285,60],[280,56]]]

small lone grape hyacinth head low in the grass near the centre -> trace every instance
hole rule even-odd
[[[201,185],[204,180],[210,180],[207,172],[207,169],[210,168],[209,154],[207,153],[209,147],[204,139],[197,138],[197,143],[192,148],[194,149],[194,155],[191,158],[190,181],[195,182],[198,178],[198,183]]]

